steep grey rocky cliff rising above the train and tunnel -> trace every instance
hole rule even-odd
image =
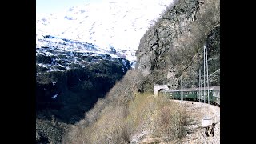
[[[208,59],[213,60],[208,64],[209,74],[219,69],[219,29],[219,0],[178,0],[140,40],[136,69],[145,80],[154,79],[151,87],[164,83],[175,89],[181,77],[190,79],[187,86],[198,86],[203,46],[207,46]]]

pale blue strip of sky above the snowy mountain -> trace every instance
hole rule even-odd
[[[61,13],[72,6],[79,6],[85,2],[101,2],[102,0],[36,0],[37,14]]]

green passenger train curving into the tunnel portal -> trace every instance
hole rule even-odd
[[[200,94],[201,91],[201,94]],[[207,102],[208,103],[208,87],[199,88],[182,88],[179,90],[160,90],[159,96],[179,99],[179,100],[189,100],[196,102]],[[220,86],[210,86],[209,87],[209,103],[217,106],[221,105],[220,98]]]

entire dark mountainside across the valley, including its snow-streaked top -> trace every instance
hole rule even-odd
[[[36,47],[37,112],[74,123],[120,80],[130,62],[112,49],[43,35]],[[46,112],[47,111],[47,112]]]

